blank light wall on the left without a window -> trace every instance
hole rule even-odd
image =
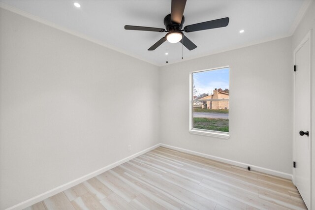
[[[157,66],[3,9],[0,43],[1,210],[158,144]]]

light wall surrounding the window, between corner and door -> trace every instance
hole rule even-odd
[[[292,174],[291,41],[282,38],[162,67],[162,143]],[[230,138],[190,134],[189,72],[226,65]]]

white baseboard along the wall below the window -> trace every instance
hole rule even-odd
[[[269,175],[273,175],[273,176],[277,176],[277,177],[281,177],[284,179],[288,179],[288,180],[293,180],[293,175],[292,174],[287,174],[284,172],[280,172],[280,171],[276,171],[276,170],[272,170],[272,169],[267,169],[267,168],[263,168],[263,167],[259,167],[259,166],[254,166],[252,164],[248,164],[248,163],[242,163],[242,162],[238,162],[238,161],[234,161],[234,160],[229,160],[229,159],[225,159],[222,157],[217,157],[217,156],[213,156],[210,154],[205,154],[205,153],[201,153],[201,152],[197,152],[197,151],[192,151],[192,150],[186,150],[183,148],[179,148],[179,147],[174,147],[174,146],[170,146],[170,145],[166,145],[166,144],[160,144],[161,147],[165,147],[168,149],[172,149],[172,150],[177,150],[177,151],[182,151],[182,152],[186,152],[189,154],[194,154],[200,157],[205,157],[211,160],[217,160],[223,163],[227,163],[227,164],[231,164],[234,166],[239,166],[242,168],[247,168],[248,166],[251,167],[252,170],[254,171],[258,171],[258,172],[262,172],[262,173],[266,173]]]

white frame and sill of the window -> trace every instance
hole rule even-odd
[[[216,68],[210,68],[210,69],[204,69],[204,70],[198,70],[198,71],[192,71],[189,73],[189,133],[191,134],[197,134],[197,135],[203,135],[203,136],[212,136],[212,137],[218,137],[223,139],[228,139],[230,137],[229,132],[222,132],[222,131],[214,131],[214,130],[204,130],[204,129],[198,129],[193,128],[193,102],[194,101],[215,101],[215,100],[228,100],[229,99],[206,99],[206,100],[193,100],[193,80],[192,80],[192,74],[203,72],[203,71],[211,71],[211,70],[218,70],[221,68],[230,68],[230,66],[221,66]],[[229,77],[230,81],[230,77]]]

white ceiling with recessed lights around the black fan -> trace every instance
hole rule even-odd
[[[165,28],[163,19],[170,13],[171,0],[0,1],[156,65],[166,64],[166,45],[168,63],[181,61],[181,43],[164,42],[155,51],[147,50],[165,32],[124,30],[125,25]],[[75,1],[80,8],[73,5]],[[289,36],[303,5],[303,0],[187,0],[184,27],[223,17],[230,22],[225,28],[185,33],[197,48],[184,47],[184,60]]]

